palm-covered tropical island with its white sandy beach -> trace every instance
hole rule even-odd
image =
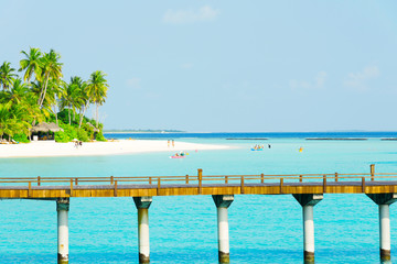
[[[107,141],[98,113],[109,88],[106,74],[96,70],[86,80],[73,76],[66,81],[61,55],[54,50],[42,53],[31,47],[21,54],[23,58],[18,70],[9,62],[0,66],[0,157],[117,155],[226,147],[184,142],[171,146],[167,141],[150,140]],[[85,116],[92,106],[95,107],[94,119]],[[30,142],[34,144],[21,144]],[[96,143],[83,147],[83,142]]]

